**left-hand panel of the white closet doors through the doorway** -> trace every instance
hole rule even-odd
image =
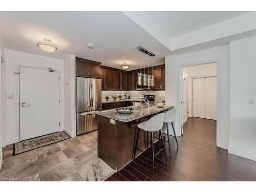
[[[193,79],[193,116],[206,118],[206,78]]]

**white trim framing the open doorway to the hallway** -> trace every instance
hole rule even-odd
[[[176,67],[176,82],[178,82],[177,86],[177,113],[179,113],[176,118],[176,131],[177,135],[181,135],[181,129],[182,129],[182,108],[181,108],[181,101],[182,101],[182,69],[184,67],[190,67],[190,66],[199,66],[199,65],[204,65],[208,63],[217,63],[217,122],[216,122],[216,145],[217,146],[222,146],[221,144],[221,135],[220,135],[220,121],[221,121],[221,93],[220,93],[220,88],[221,88],[221,58],[216,58],[216,59],[210,59],[210,60],[205,60],[201,62],[193,62],[193,63],[183,63],[179,66]],[[223,148],[223,147],[222,147]]]

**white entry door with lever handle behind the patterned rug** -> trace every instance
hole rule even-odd
[[[59,72],[19,67],[19,140],[59,132]]]

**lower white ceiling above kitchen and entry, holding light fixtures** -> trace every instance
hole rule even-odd
[[[7,49],[60,59],[73,54],[116,68],[126,61],[129,70],[163,64],[170,54],[122,12],[0,12],[0,34]],[[57,52],[37,48],[36,42],[44,37],[52,39]],[[87,48],[88,42],[95,48]],[[137,51],[137,46],[156,56]]]

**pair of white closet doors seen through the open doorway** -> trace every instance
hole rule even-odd
[[[217,119],[217,78],[193,79],[193,116]]]

